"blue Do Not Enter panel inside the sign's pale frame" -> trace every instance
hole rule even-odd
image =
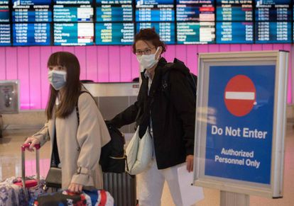
[[[205,176],[271,183],[275,68],[210,67]]]

